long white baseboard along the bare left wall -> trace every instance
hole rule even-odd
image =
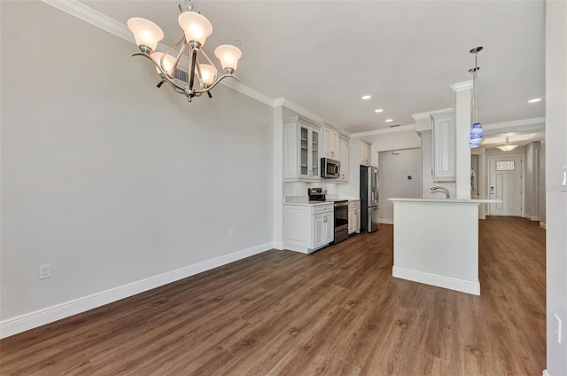
[[[260,246],[250,247],[242,251],[234,252],[229,255],[222,255],[211,260],[198,262],[181,269],[167,271],[154,277],[145,278],[136,282],[129,283],[102,291],[97,294],[90,294],[73,301],[60,303],[44,309],[38,309],[17,317],[11,317],[0,321],[0,338],[22,333],[38,326],[50,324],[65,317],[70,317],[89,309],[95,309],[105,304],[120,301],[136,294],[144,293],[153,288],[164,286],[177,280],[188,278],[206,270],[212,270],[230,262],[242,260],[252,255],[257,255],[268,251],[274,247],[273,242],[261,244]]]

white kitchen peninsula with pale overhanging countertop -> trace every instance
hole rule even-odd
[[[392,276],[480,295],[478,205],[500,200],[393,202]]]

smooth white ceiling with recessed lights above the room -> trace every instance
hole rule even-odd
[[[81,1],[126,24],[156,22],[172,45],[180,1]],[[240,41],[241,82],[286,98],[351,133],[408,125],[447,108],[449,86],[471,79],[478,54],[478,120],[543,117],[545,2],[195,0],[213,24],[204,50]],[[136,51],[132,47],[131,53]],[[369,100],[361,96],[369,94]],[[198,100],[206,100],[199,98]],[[195,105],[197,105],[195,103]],[[193,106],[193,105],[188,105]],[[375,109],[384,109],[376,114]],[[392,122],[385,122],[392,119]]]

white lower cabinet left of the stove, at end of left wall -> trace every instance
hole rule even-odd
[[[335,239],[333,204],[283,205],[283,242],[286,249],[310,254]]]

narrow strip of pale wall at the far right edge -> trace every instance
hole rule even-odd
[[[546,188],[548,374],[567,374],[567,2],[546,1]],[[563,320],[557,342],[554,315]]]

